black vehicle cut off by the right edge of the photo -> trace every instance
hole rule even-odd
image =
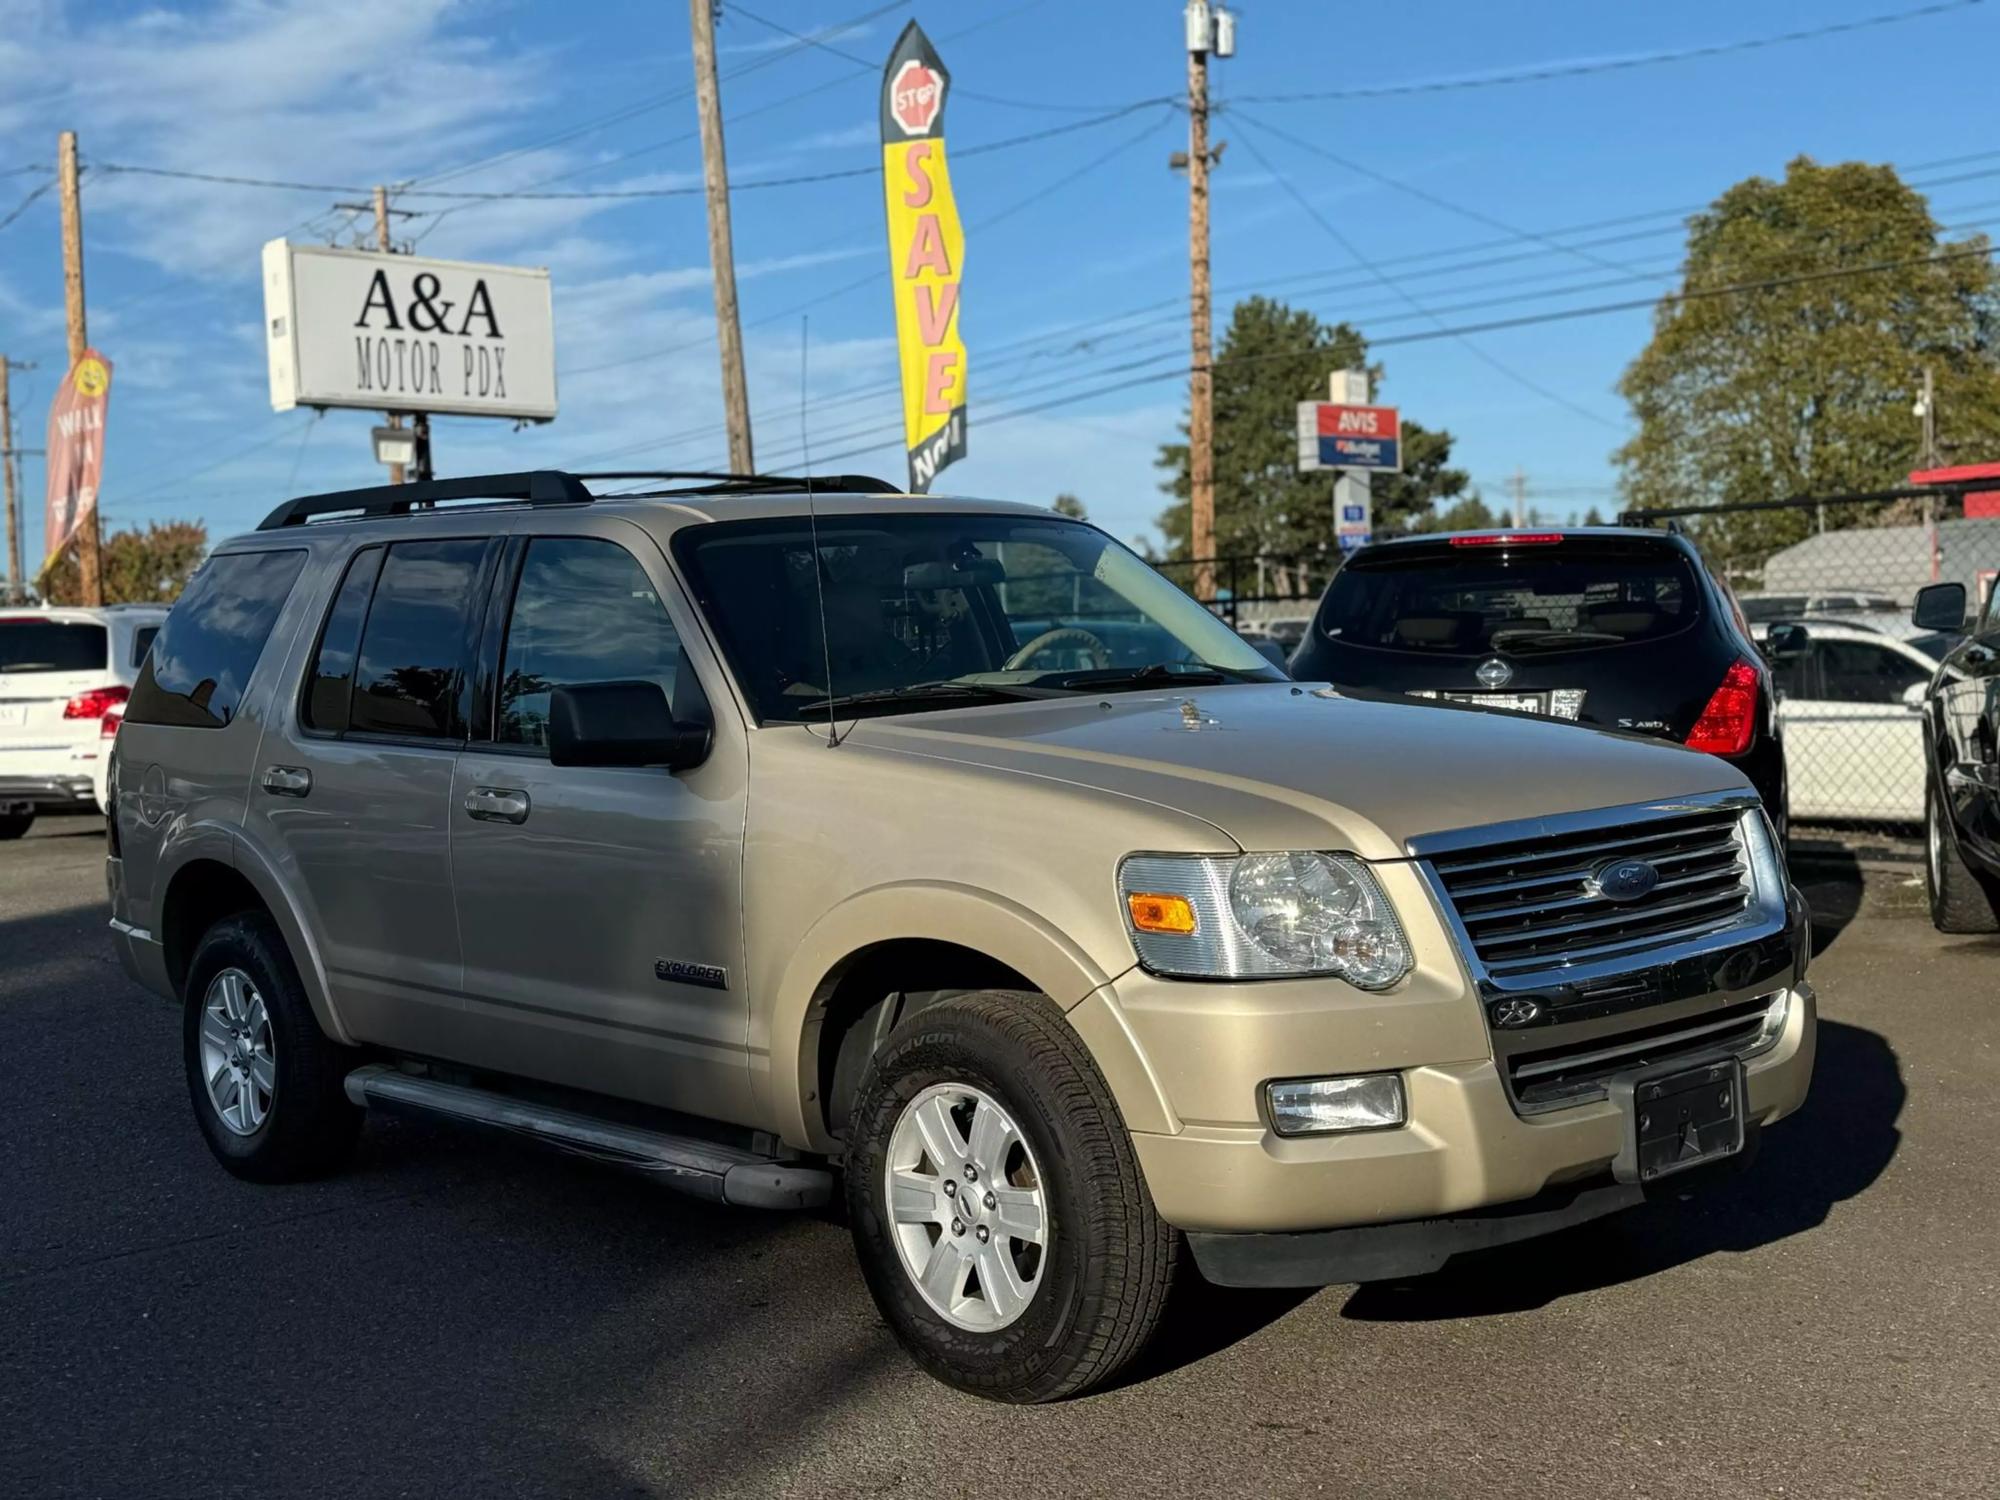
[[[1966,586],[1930,584],[1910,620],[1966,632],[1922,704],[1930,920],[1938,932],[2000,932],[2000,590],[1968,626]]]

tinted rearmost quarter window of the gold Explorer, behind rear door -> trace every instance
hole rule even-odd
[[[278,610],[304,566],[304,550],[210,558],[154,636],[126,724],[220,728],[236,718]]]

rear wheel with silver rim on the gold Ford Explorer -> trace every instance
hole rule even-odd
[[[278,926],[262,912],[216,922],[182,986],[188,1098],[208,1150],[248,1182],[322,1176],[354,1148],[362,1112],[342,1082],[350,1048],[320,1030]]]

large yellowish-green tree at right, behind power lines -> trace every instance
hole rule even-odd
[[[1972,254],[1818,276],[1960,250]],[[1784,182],[1738,182],[1690,220],[1682,298],[1660,304],[1652,342],[1620,382],[1638,418],[1616,454],[1626,502],[1902,484],[1918,464],[1910,404],[1924,366],[1938,380],[1940,436],[1990,450],[2000,440],[2000,276],[1984,250],[1984,236],[1940,242],[1922,194],[1890,166],[1800,156]],[[1808,274],[1816,278],[1698,296]],[[1838,520],[1866,520],[1842,512]],[[1780,510],[1716,518],[1706,534],[1742,552],[1804,528],[1802,514]]]

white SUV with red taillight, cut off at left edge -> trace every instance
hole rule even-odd
[[[164,604],[0,608],[0,840],[38,812],[102,812],[110,736],[164,620]]]

